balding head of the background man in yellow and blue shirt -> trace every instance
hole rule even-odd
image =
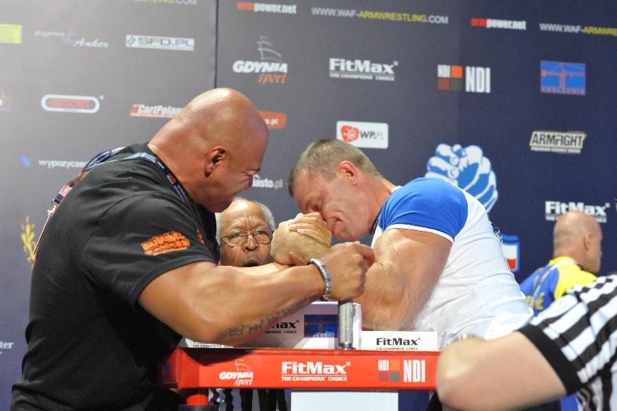
[[[592,216],[569,211],[559,217],[553,229],[553,258],[574,258],[590,273],[600,270],[602,229]]]

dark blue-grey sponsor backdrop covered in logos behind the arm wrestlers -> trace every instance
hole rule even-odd
[[[601,0],[3,1],[0,403],[51,199],[214,86],[268,122],[243,195],[278,220],[297,213],[285,183],[301,150],[340,138],[396,184],[427,175],[475,195],[518,280],[550,258],[567,210],[601,223],[600,274],[617,270],[616,21]]]

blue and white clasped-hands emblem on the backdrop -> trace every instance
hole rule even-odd
[[[489,212],[497,201],[497,182],[481,147],[440,144],[427,162],[425,177],[438,177],[476,197]]]

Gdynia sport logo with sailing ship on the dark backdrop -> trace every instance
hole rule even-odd
[[[285,84],[288,73],[287,63],[281,53],[274,49],[273,43],[267,36],[260,36],[257,40],[259,61],[236,60],[231,65],[234,73],[259,74],[257,82],[260,84]]]

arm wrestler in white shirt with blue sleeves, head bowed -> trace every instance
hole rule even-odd
[[[360,149],[319,140],[301,154],[288,188],[336,238],[373,234],[376,262],[355,300],[364,327],[435,331],[442,349],[461,334],[496,338],[531,319],[486,210],[453,184],[418,178],[399,187]],[[309,228],[302,217],[288,227]],[[282,248],[275,258],[290,252]]]

